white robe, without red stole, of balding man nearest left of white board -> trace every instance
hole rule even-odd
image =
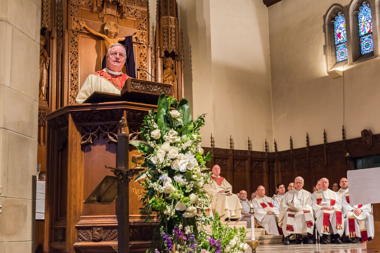
[[[335,194],[335,204],[332,206],[334,210],[330,211],[330,228],[328,231],[323,231],[323,210],[321,210],[322,207],[331,207],[331,199],[330,199],[330,191]],[[321,206],[317,204],[317,193],[322,193],[322,201]],[[314,216],[315,216],[315,226],[317,228],[317,231],[320,236],[322,234],[339,234],[339,236],[343,235],[343,229],[337,229],[336,228],[336,212],[335,210],[342,210],[342,199],[340,198],[339,194],[337,192],[334,192],[332,190],[327,189],[326,191],[323,191],[322,189],[315,191],[311,195],[312,200],[312,207],[314,210]],[[344,218],[342,217],[342,225],[344,224]]]

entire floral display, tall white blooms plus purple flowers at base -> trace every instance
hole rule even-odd
[[[204,116],[192,120],[185,98],[177,103],[162,93],[157,113],[152,110],[144,118],[143,140],[130,142],[146,157],[142,166],[147,170],[136,180],[145,189],[141,213],[149,222],[154,213],[160,220],[161,247],[155,253],[242,253],[248,248],[245,229],[223,226],[218,213],[212,234],[204,229],[211,220],[204,211],[210,199],[203,185],[211,174],[205,166],[210,154],[204,155],[200,146]]]

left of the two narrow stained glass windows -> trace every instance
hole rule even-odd
[[[334,23],[334,35],[335,35],[335,52],[336,62],[347,60],[347,34],[346,34],[346,19],[344,14],[339,12],[335,17]]]

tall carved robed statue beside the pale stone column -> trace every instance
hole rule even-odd
[[[40,93],[38,101],[46,103],[47,88],[47,68],[49,67],[50,57],[45,50],[46,39],[40,36]]]

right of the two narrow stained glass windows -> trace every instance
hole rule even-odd
[[[369,3],[363,2],[362,6],[359,7],[358,21],[361,54],[367,54],[374,51],[371,8],[369,8]]]

